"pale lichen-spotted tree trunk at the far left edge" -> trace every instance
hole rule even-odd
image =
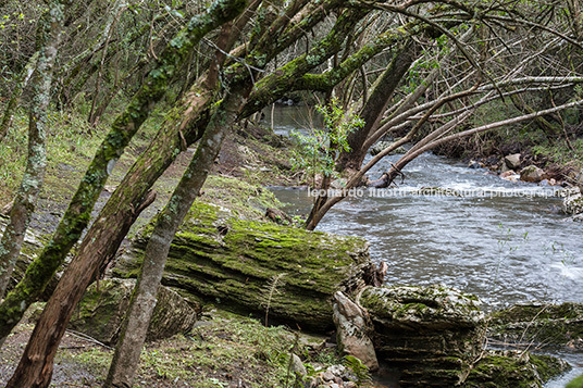
[[[54,62],[59,52],[59,45],[62,37],[62,25],[64,20],[64,5],[60,1],[53,1],[50,10],[41,17],[38,27],[39,53],[30,59],[27,67],[36,61],[38,57],[35,76],[33,78],[33,100],[30,103],[30,114],[28,118],[28,160],[26,170],[21,183],[21,187],[16,192],[16,198],[10,212],[10,223],[4,229],[2,239],[0,240],[0,299],[7,291],[10,276],[16,265],[16,260],[21,253],[21,248],[24,242],[24,235],[30,223],[30,218],[35,211],[38,193],[45,180],[45,172],[47,170],[47,148],[45,146],[46,126],[47,126],[47,108],[51,99],[51,85],[54,68]],[[32,68],[28,68],[27,74],[30,74]],[[22,83],[26,82],[27,76]],[[13,103],[12,109],[16,107],[18,93],[22,92],[22,86],[17,87],[13,93],[13,98],[9,103]],[[12,117],[13,112],[7,110],[7,116]],[[2,122],[10,125],[9,121]],[[4,128],[2,128],[4,129]],[[2,136],[2,134],[0,134]],[[1,339],[0,339],[1,341]]]

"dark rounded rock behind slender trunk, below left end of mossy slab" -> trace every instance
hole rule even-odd
[[[115,343],[135,285],[135,279],[94,283],[75,309],[70,327],[103,343]],[[190,330],[197,320],[197,309],[164,286],[159,288],[157,298],[147,340]]]

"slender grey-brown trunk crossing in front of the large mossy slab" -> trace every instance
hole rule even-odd
[[[144,265],[134,289],[128,315],[126,316],[117,347],[111,362],[104,387],[131,387],[139,365],[139,354],[146,340],[156,296],[162,279],[170,245],[184,221],[193,202],[199,196],[209,171],[219,155],[228,128],[237,118],[243,105],[243,96],[232,93],[223,100],[204,130],[198,149],[184,172],[169,203],[158,216],[144,256]]]

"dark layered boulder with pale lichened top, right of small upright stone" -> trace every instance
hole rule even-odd
[[[374,323],[376,355],[400,370],[401,387],[452,387],[483,350],[485,318],[474,296],[441,286],[368,287],[359,301]]]

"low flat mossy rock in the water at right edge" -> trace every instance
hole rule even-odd
[[[583,349],[583,304],[516,304],[492,314],[488,335],[504,341]]]

